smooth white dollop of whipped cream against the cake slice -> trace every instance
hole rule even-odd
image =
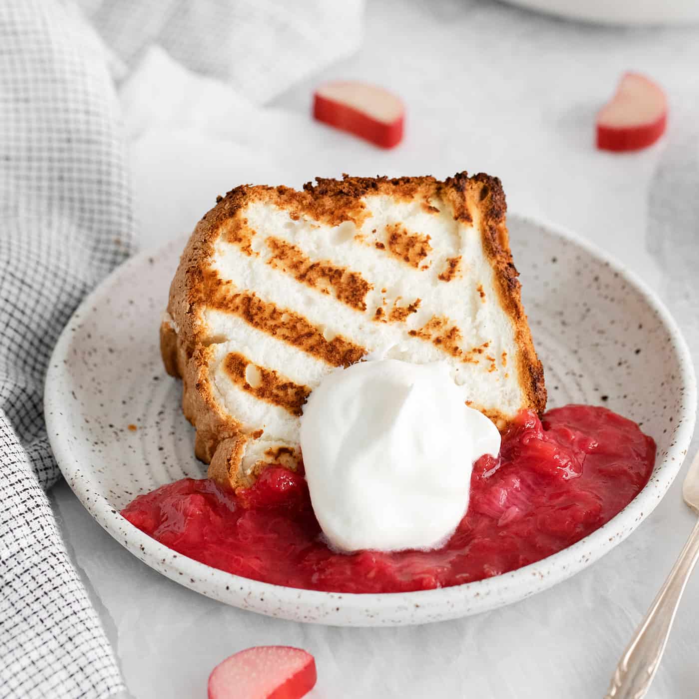
[[[334,370],[301,417],[313,510],[347,552],[440,546],[466,514],[474,461],[499,451],[498,428],[468,408],[442,362]]]

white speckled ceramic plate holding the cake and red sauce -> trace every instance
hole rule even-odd
[[[46,379],[45,414],[66,480],[94,519],[147,565],[204,595],[273,617],[340,626],[422,624],[484,612],[561,582],[624,540],[663,497],[689,445],[696,384],[675,323],[641,282],[552,226],[512,216],[510,234],[549,407],[607,405],[658,443],[643,491],[574,546],[461,586],[352,595],[230,575],[131,526],[119,510],[138,493],[206,473],[194,459],[180,383],[166,375],[158,347],[182,239],[117,269],[80,305],[59,339]]]

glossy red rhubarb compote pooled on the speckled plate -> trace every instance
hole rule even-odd
[[[255,580],[354,593],[425,590],[500,575],[574,544],[635,498],[655,454],[637,424],[606,408],[567,405],[542,419],[521,412],[499,458],[475,463],[468,512],[431,551],[333,552],[303,475],[282,466],[235,492],[186,478],[138,496],[122,514],[180,554]]]

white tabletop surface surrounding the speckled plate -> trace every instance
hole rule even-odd
[[[215,194],[239,182],[468,169],[499,175],[511,210],[582,233],[664,296],[674,271],[655,257],[649,189],[666,143],[682,136],[683,115],[699,103],[698,64],[696,29],[601,29],[466,0],[429,8],[417,0],[370,3],[359,54],[262,112],[202,78],[158,80],[173,69],[155,55],[122,89],[142,245],[191,229]],[[626,69],[661,82],[677,118],[666,143],[639,154],[600,153],[593,116]],[[382,152],[312,124],[312,85],[324,78],[390,85],[408,106],[405,143]],[[696,321],[678,320],[692,335]],[[587,699],[603,696],[689,534],[679,487],[630,539],[568,582],[489,614],[398,629],[303,626],[225,607],[137,561],[65,484],[52,499],[136,699],[205,696],[212,667],[256,644],[315,654],[317,698]],[[699,693],[698,617],[699,576],[649,696]]]

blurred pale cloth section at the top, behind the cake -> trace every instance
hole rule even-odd
[[[130,66],[151,45],[264,102],[361,42],[364,0],[78,0]]]

